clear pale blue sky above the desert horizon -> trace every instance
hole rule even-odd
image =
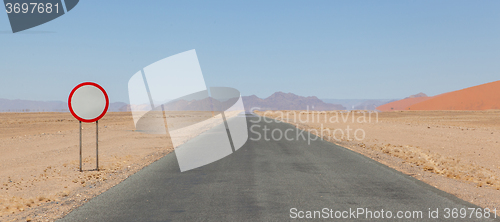
[[[208,86],[331,99],[436,95],[500,78],[500,1],[92,1],[12,34],[0,98],[128,102],[141,68],[196,49]]]

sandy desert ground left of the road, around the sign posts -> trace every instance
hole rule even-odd
[[[0,113],[0,221],[53,221],[171,152],[166,135],[134,132],[130,113],[83,124],[69,113]]]

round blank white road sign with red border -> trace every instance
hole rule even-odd
[[[76,119],[87,123],[95,122],[108,111],[108,94],[100,85],[84,82],[71,91],[68,106]]]

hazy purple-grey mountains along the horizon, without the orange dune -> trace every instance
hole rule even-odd
[[[424,94],[425,95],[425,94]],[[419,97],[415,95],[415,97]],[[276,92],[267,98],[255,95],[242,96],[246,110],[374,110],[376,107],[392,102],[389,99],[318,99],[316,96],[299,96],[293,93]],[[214,99],[176,100],[165,105],[166,110],[207,110],[213,107],[228,108],[234,101],[219,102]],[[147,110],[149,104],[136,105],[138,110]],[[142,107],[142,108],[141,108]],[[217,108],[216,108],[217,109]],[[128,112],[130,105],[123,102],[111,103],[109,112]],[[69,112],[68,105],[62,101],[31,101],[0,99],[0,112]]]

